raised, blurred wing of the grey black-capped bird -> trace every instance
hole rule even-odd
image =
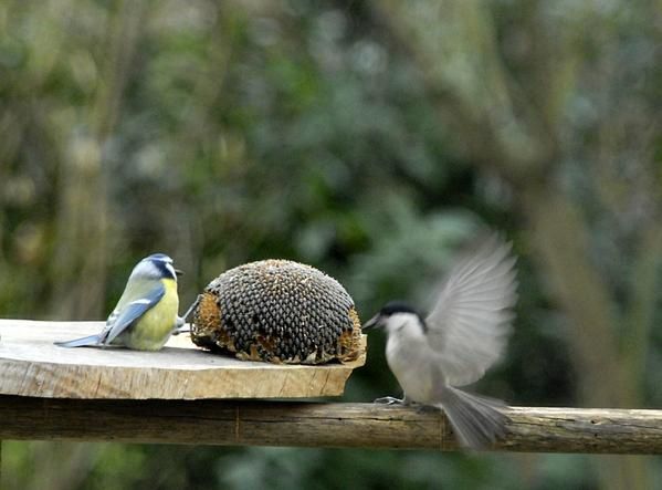
[[[460,260],[425,319],[430,347],[451,386],[480,379],[506,346],[517,301],[511,248],[493,234]]]

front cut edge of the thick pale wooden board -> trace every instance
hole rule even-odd
[[[167,369],[15,362],[0,358],[0,395],[63,399],[219,399],[340,396],[343,364]]]

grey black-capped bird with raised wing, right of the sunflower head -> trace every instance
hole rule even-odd
[[[460,387],[483,377],[503,355],[517,301],[511,243],[491,236],[459,260],[424,319],[404,303],[388,303],[364,329],[388,334],[386,356],[404,399],[443,408],[460,442],[480,449],[505,435],[501,400]]]

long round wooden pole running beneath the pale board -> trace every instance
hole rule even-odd
[[[493,450],[662,453],[662,410],[513,407]],[[0,439],[458,448],[439,411],[375,404],[0,396]]]

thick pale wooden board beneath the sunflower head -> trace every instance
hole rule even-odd
[[[366,361],[365,351],[353,363],[322,366],[238,361],[200,350],[186,334],[171,337],[159,352],[53,345],[97,333],[103,325],[0,320],[0,394],[114,399],[338,396],[351,369]]]

